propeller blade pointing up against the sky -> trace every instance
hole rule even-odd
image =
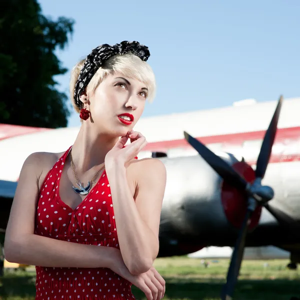
[[[278,123],[278,118],[280,114],[280,109],[281,109],[281,104],[282,104],[283,97],[282,95],[280,96],[276,109],[274,111],[273,117],[270,121],[270,124],[265,132],[260,152],[257,158],[257,163],[256,163],[256,170],[255,170],[255,176],[256,178],[263,178],[270,155],[271,155],[271,150],[273,146],[273,142],[275,139],[276,135],[276,130],[277,130],[277,123]]]

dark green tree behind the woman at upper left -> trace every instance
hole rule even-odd
[[[67,125],[66,94],[53,76],[66,68],[56,57],[74,21],[41,14],[36,0],[4,0],[0,9],[0,123],[57,128]]]

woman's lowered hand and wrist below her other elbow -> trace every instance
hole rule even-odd
[[[116,249],[110,269],[144,292],[147,300],[160,300],[164,296],[165,281],[153,266],[145,273],[133,275]]]

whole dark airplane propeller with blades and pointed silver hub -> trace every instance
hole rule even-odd
[[[238,237],[231,255],[230,265],[227,272],[226,283],[221,292],[222,300],[232,298],[233,289],[237,281],[241,260],[243,257],[245,237],[250,223],[252,212],[257,205],[265,205],[270,211],[267,201],[273,198],[274,191],[269,186],[262,186],[261,179],[265,174],[265,170],[270,158],[272,145],[275,139],[277,123],[280,114],[283,97],[280,96],[273,117],[270,121],[268,129],[265,132],[260,152],[257,158],[255,180],[252,184],[247,182],[239,175],[227,162],[210,151],[199,140],[184,131],[184,137],[187,142],[206,160],[206,162],[228,183],[237,189],[244,190],[247,194],[247,211],[244,216],[242,225],[239,229]],[[271,211],[270,211],[271,212]],[[272,212],[271,212],[272,213]]]

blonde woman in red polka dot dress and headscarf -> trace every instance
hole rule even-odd
[[[131,283],[163,297],[152,263],[166,172],[136,159],[146,140],[132,130],[154,95],[149,55],[136,41],[93,49],[71,73],[82,122],[73,145],[22,166],[4,248],[8,261],[36,265],[36,299],[132,299]]]

